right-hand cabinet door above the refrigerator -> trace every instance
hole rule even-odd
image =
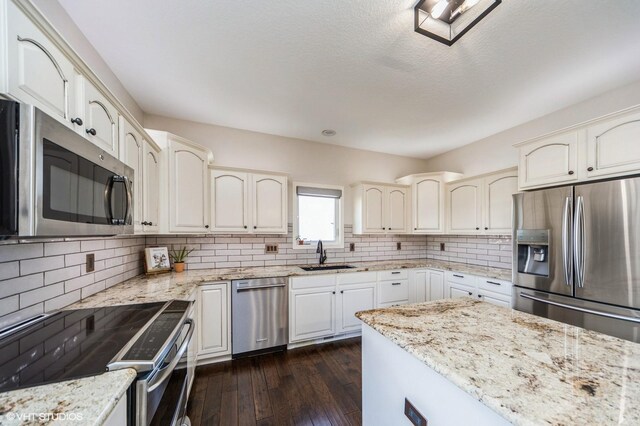
[[[587,177],[640,171],[640,112],[587,129]]]

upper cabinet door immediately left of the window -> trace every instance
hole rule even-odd
[[[251,175],[253,231],[286,234],[287,178],[276,175]]]

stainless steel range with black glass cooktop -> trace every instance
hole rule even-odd
[[[134,368],[128,425],[182,425],[195,359],[193,303],[60,311],[0,333],[0,392]]]

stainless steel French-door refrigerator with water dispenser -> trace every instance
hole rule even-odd
[[[640,178],[513,202],[515,308],[640,342]]]

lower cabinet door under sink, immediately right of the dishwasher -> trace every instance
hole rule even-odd
[[[291,291],[290,341],[333,336],[336,332],[335,287]]]

